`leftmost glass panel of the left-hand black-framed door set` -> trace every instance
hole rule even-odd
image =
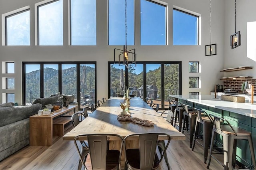
[[[25,104],[40,98],[40,64],[25,65]]]

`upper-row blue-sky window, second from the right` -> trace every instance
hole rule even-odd
[[[166,45],[166,6],[140,0],[141,45]]]

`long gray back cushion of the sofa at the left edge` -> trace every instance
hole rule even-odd
[[[36,103],[28,106],[14,106],[0,108],[0,127],[27,119],[38,113],[42,105]]]

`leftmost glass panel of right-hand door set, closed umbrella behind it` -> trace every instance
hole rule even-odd
[[[125,91],[125,66],[110,64],[110,97],[124,95]]]

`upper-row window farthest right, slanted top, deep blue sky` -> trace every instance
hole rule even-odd
[[[173,8],[173,45],[198,45],[198,16]]]

